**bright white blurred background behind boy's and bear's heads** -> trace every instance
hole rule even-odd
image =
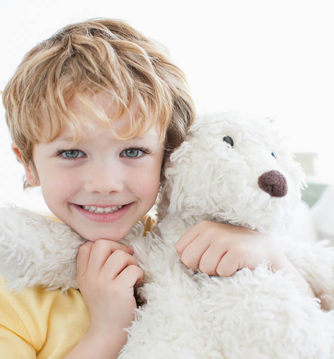
[[[128,21],[164,43],[186,73],[198,113],[274,119],[309,183],[334,182],[334,21],[331,1],[12,0],[0,14],[0,89],[24,54],[61,27],[93,17]],[[24,194],[0,106],[0,203],[45,209]]]

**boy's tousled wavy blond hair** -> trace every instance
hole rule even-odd
[[[4,89],[6,121],[24,162],[35,170],[34,144],[51,142],[64,126],[79,137],[92,125],[69,107],[73,95],[102,122],[112,123],[93,104],[100,91],[115,99],[114,119],[136,106],[124,139],[155,125],[166,155],[182,143],[195,116],[185,75],[166,48],[124,21],[87,20],[37,44]],[[49,133],[43,131],[47,120]]]

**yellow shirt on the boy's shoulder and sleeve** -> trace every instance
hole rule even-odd
[[[26,288],[15,294],[0,277],[1,359],[60,359],[90,326],[88,308],[77,289]]]

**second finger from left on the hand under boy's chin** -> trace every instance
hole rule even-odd
[[[108,239],[98,239],[91,250],[90,259],[88,261],[88,271],[100,270],[108,257],[115,251],[121,250],[125,253],[133,254],[133,249],[125,244],[115,242]]]

